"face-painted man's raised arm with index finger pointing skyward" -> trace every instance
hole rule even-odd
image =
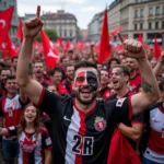
[[[35,104],[37,104],[39,101],[43,86],[35,80],[31,79],[30,66],[32,62],[33,42],[43,26],[43,23],[39,20],[39,12],[40,7],[37,7],[36,16],[33,20],[28,20],[24,23],[24,38],[16,69],[16,80],[19,86]]]

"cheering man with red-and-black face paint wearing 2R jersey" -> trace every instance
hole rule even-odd
[[[72,86],[75,98],[69,95],[59,96],[44,89],[27,74],[33,40],[43,26],[39,12],[40,7],[37,8],[36,16],[24,24],[24,40],[17,62],[17,83],[31,101],[52,120],[54,163],[105,164],[116,125],[142,112],[160,97],[157,83],[143,47],[139,42],[124,40],[119,35],[124,44],[124,50],[119,54],[138,58],[142,75],[145,78],[143,92],[108,103],[96,101],[99,85],[96,65],[81,61],[74,67]]]

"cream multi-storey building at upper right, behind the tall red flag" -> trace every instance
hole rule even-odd
[[[102,32],[103,19],[104,14],[98,20],[98,34]],[[119,25],[126,37],[137,38],[142,34],[148,44],[153,44],[156,36],[164,46],[164,0],[115,0],[108,8],[109,33]]]

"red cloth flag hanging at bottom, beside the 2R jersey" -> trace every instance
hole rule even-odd
[[[129,144],[126,137],[118,129],[116,129],[112,138],[107,164],[121,163],[141,164],[137,153]]]

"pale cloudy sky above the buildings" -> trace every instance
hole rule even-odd
[[[36,7],[42,7],[42,13],[56,12],[63,9],[66,12],[77,16],[80,28],[87,28],[95,13],[102,12],[106,4],[114,0],[17,0],[17,12],[20,16],[24,13],[35,13]]]

